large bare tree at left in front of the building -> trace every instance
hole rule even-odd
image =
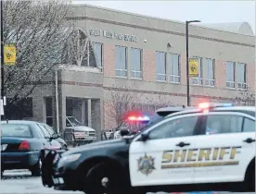
[[[61,63],[69,36],[65,18],[70,0],[4,1],[4,42],[16,43],[16,66],[5,67],[5,91],[10,103],[32,94],[53,67]]]

